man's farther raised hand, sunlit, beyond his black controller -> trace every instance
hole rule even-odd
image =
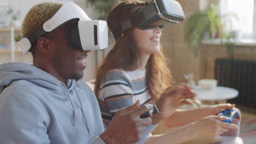
[[[186,85],[179,84],[165,89],[160,99],[156,101],[156,106],[160,113],[153,115],[153,124],[161,119],[170,117],[179,106],[190,104],[186,99],[194,99],[195,94]]]

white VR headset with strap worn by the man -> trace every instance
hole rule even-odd
[[[71,23],[67,30],[68,43],[78,50],[101,50],[108,46],[108,26],[106,21],[91,20],[77,4],[67,2],[57,13],[46,21],[43,27],[32,33],[27,38],[19,41],[19,46],[25,54],[30,51],[31,44],[46,32]]]

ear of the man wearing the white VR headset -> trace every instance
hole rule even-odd
[[[51,41],[45,37],[40,37],[37,41],[38,50],[42,53],[50,53]]]

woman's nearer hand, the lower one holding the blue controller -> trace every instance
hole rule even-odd
[[[222,116],[208,116],[205,118],[199,119],[191,124],[192,131],[195,131],[195,137],[197,136],[206,136],[206,137],[216,137],[223,134],[229,129],[237,129],[237,125],[225,121],[226,117]]]

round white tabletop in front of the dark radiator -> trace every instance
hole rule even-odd
[[[218,101],[218,103],[226,103],[226,100],[234,99],[238,96],[236,89],[220,86],[211,90],[197,89],[195,93],[196,97],[200,100],[212,101],[213,104],[215,101]]]

